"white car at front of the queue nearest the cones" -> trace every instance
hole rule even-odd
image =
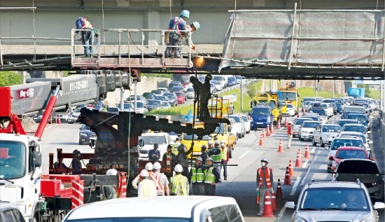
[[[332,140],[341,132],[342,127],[337,124],[325,123],[317,125],[313,131],[313,146],[319,144],[321,147],[330,145]]]

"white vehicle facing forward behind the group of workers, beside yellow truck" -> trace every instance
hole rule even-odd
[[[139,137],[139,160],[148,160],[148,151],[154,148],[154,144],[158,144],[160,156],[167,151],[167,146],[174,144],[167,132],[146,132]]]

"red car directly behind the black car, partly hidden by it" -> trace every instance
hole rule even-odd
[[[345,159],[373,160],[373,158],[369,158],[369,155],[367,155],[367,152],[363,148],[356,146],[342,146],[337,149],[335,156],[329,157],[329,160],[332,160],[331,172],[335,172],[335,169],[337,169],[339,162]]]

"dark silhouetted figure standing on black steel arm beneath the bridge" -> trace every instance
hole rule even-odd
[[[211,74],[207,74],[204,78],[204,83],[201,83],[195,76],[190,77],[190,83],[193,83],[194,91],[197,92],[197,98],[199,98],[200,101],[199,118],[201,121],[211,118],[209,99],[211,98],[210,81],[212,78],[213,76],[211,76]],[[196,100],[194,100],[194,102],[196,102]]]

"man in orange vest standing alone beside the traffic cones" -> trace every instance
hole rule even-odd
[[[259,192],[260,202],[259,202],[259,213],[258,216],[263,215],[263,209],[265,207],[265,195],[266,190],[269,189],[270,193],[274,193],[274,179],[273,171],[271,168],[267,167],[269,160],[267,158],[262,158],[260,160],[261,167],[257,169],[257,193]]]

